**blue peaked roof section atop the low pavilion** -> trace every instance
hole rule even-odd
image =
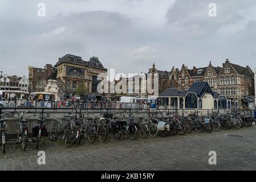
[[[210,88],[208,82],[194,82],[189,88],[188,92],[194,92],[198,97],[202,97],[204,93],[210,93],[213,95],[213,90]]]

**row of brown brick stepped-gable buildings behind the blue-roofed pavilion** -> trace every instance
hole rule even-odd
[[[159,93],[168,88],[188,90],[194,82],[208,82],[214,92],[225,95],[231,100],[231,107],[253,107],[255,100],[254,73],[249,66],[242,67],[226,59],[222,67],[214,67],[210,61],[208,67],[188,69],[184,64],[181,69],[174,67],[170,72],[159,71],[155,67],[149,73],[159,74]]]

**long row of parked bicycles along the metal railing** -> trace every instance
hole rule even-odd
[[[13,142],[21,143],[25,151],[27,142],[36,143],[36,149],[39,148],[41,138],[48,137],[46,130],[46,118],[50,118],[46,113],[35,114],[37,116],[36,125],[32,127],[32,137],[28,137],[29,129],[27,120],[23,115],[29,113],[17,112],[19,117],[17,139]],[[1,117],[5,114],[0,115]],[[125,117],[124,113],[103,113],[102,117],[95,113],[83,113],[80,117],[76,114],[68,113],[64,118],[55,119],[53,132],[50,138],[52,140],[61,139],[65,146],[70,147],[73,144],[80,145],[82,140],[94,143],[98,138],[101,142],[105,142],[109,138],[119,140],[122,136],[127,135],[132,140],[137,137],[147,138],[148,136],[156,137],[157,135],[164,137],[170,135],[184,135],[192,133],[193,130],[198,133],[211,133],[220,129],[240,129],[241,127],[255,126],[255,118],[249,115],[238,113],[236,115],[212,113],[204,115],[204,113],[188,113],[185,116],[178,113],[148,113],[144,117],[136,117],[139,114],[130,114]],[[114,117],[115,115],[115,117]],[[0,119],[0,136],[3,153],[5,153],[6,142],[6,120]]]

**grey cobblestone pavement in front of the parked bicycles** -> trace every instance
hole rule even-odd
[[[0,170],[255,170],[255,143],[256,127],[135,141],[123,137],[70,148],[46,138],[39,148],[46,152],[46,165],[38,165],[35,143],[25,152],[7,144]],[[208,164],[209,151],[217,152],[217,165]]]

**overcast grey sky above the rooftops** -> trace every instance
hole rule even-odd
[[[38,3],[46,17],[37,15]],[[217,17],[208,15],[216,3]],[[256,68],[255,0],[1,0],[0,70],[28,75],[70,53],[99,57],[116,73],[173,65]]]

